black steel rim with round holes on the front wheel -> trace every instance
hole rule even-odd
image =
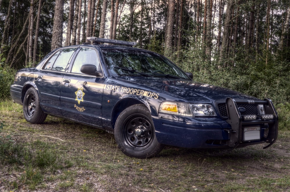
[[[132,149],[143,150],[153,140],[153,125],[141,114],[132,115],[125,120],[123,138]]]

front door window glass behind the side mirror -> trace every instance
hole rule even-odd
[[[102,70],[97,52],[94,49],[84,47],[81,48],[75,58],[71,72],[81,73],[81,66],[84,64],[92,64],[97,67],[98,71]]]

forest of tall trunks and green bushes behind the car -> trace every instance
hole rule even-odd
[[[290,99],[289,0],[0,0],[0,97],[17,69],[88,36],[161,53],[193,80]]]

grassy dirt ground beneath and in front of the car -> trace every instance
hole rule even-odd
[[[166,146],[151,159],[125,156],[114,136],[48,116],[30,124],[22,107],[0,104],[0,191],[289,191],[290,114],[278,109],[278,141],[231,152]],[[282,118],[281,118],[282,117]]]

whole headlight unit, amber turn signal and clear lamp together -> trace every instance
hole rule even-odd
[[[190,105],[187,103],[175,103],[165,101],[160,105],[159,112],[187,117],[216,116],[213,106],[210,104],[190,104]]]

